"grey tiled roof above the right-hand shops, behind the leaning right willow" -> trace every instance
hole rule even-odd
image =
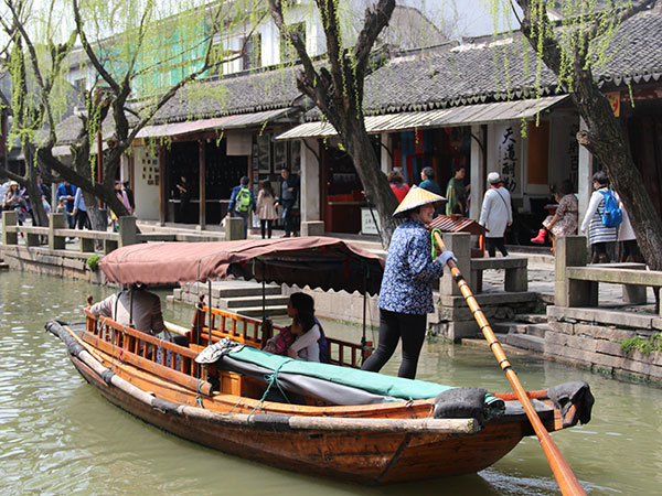
[[[613,42],[617,53],[594,67],[600,85],[659,80],[662,76],[662,17],[655,10],[630,19]],[[526,54],[526,55],[525,55]],[[447,106],[535,96],[537,60],[521,34],[491,44],[395,57],[366,79],[366,114],[429,110]],[[556,76],[543,65],[543,96],[554,94]]]

